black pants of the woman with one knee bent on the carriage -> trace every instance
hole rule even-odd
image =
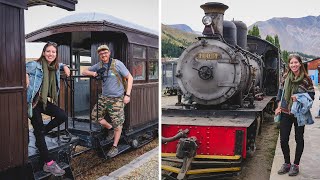
[[[49,162],[52,159],[49,158],[49,151],[44,137],[53,128],[65,122],[68,119],[68,116],[62,109],[51,102],[47,102],[46,110],[44,110],[43,103],[40,101],[38,102],[36,107],[34,107],[32,113],[33,116],[31,118],[31,124],[33,126],[33,133],[36,138],[36,147],[40,152],[40,158],[44,162]],[[41,113],[55,118],[45,126],[42,121]]]

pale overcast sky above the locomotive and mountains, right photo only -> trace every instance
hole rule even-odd
[[[187,24],[195,31],[203,30],[204,11],[200,5],[208,0],[161,0],[161,23]],[[220,0],[229,6],[225,20],[240,20],[252,25],[273,17],[300,18],[320,15],[319,0]]]

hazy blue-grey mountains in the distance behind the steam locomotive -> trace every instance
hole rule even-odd
[[[320,16],[272,18],[267,21],[258,21],[253,25],[259,27],[260,35],[263,39],[267,35],[278,35],[281,50],[320,56]],[[249,26],[248,29],[251,29],[253,25]],[[195,37],[199,34],[188,25],[174,24],[162,25],[162,37],[168,38],[168,35],[170,36],[170,33],[168,34],[166,30],[168,28],[171,29],[170,32],[176,31],[175,34],[182,34],[181,32],[184,32],[189,34],[187,36],[194,34]],[[188,39],[183,36],[180,36],[180,38]]]

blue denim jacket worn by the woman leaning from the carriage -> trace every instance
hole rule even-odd
[[[59,70],[56,71],[56,82],[57,82],[57,94],[59,95],[60,90],[60,69],[63,69],[64,64],[59,63]],[[26,64],[26,72],[29,75],[29,86],[27,89],[27,103],[30,104],[33,98],[39,91],[42,80],[43,70],[42,65],[37,61],[30,61]]]

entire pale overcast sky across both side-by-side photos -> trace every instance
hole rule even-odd
[[[159,1],[161,8],[159,7]],[[160,31],[159,10],[163,24],[187,24],[193,30],[202,31],[204,16],[201,4],[208,0],[79,0],[76,11],[56,7],[35,6],[25,11],[25,32],[40,29],[60,18],[82,12],[109,14],[126,21]],[[319,0],[220,0],[229,6],[225,20],[241,20],[252,25],[273,17],[300,18],[320,15]],[[254,7],[254,8],[252,8]],[[26,57],[39,57],[41,45],[26,44]]]

